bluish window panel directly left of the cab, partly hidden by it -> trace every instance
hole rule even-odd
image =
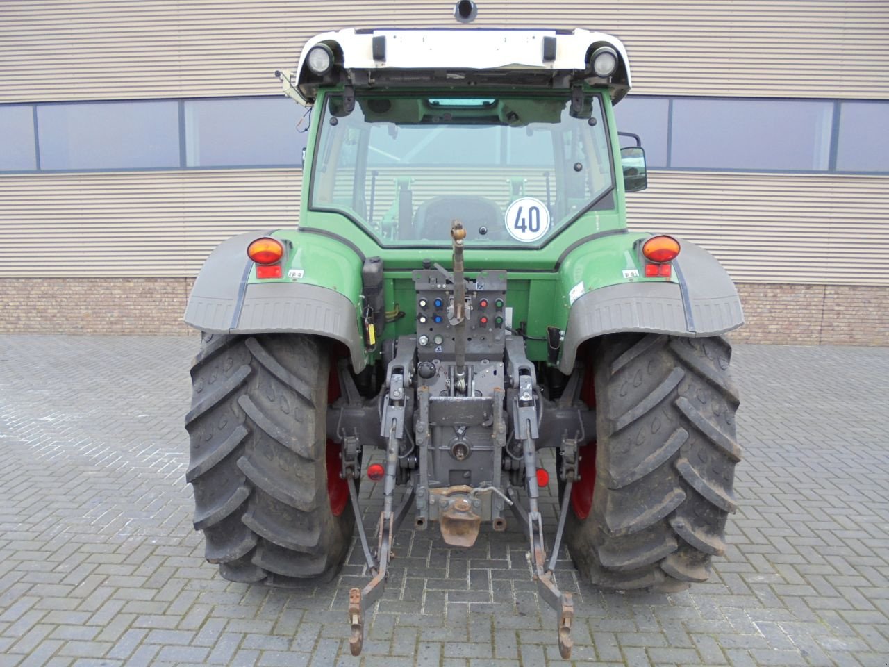
[[[293,100],[188,100],[185,164],[262,166],[302,164],[307,133],[296,125],[306,113]],[[308,118],[304,121],[308,126]]]

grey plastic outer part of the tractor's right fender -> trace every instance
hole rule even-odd
[[[715,336],[744,324],[732,278],[706,250],[680,239],[677,283],[621,283],[583,294],[568,313],[559,370],[571,373],[581,343],[604,333],[637,331]]]

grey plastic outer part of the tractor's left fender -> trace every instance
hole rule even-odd
[[[248,284],[247,245],[255,231],[223,241],[191,288],[185,323],[212,333],[315,333],[348,347],[352,366],[366,365],[355,304],[327,287],[305,283]]]

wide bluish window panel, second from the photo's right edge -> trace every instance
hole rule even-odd
[[[670,166],[703,169],[828,169],[833,102],[673,101]]]

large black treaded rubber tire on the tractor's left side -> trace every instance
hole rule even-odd
[[[233,582],[329,581],[355,517],[327,490],[323,342],[299,334],[204,333],[186,415],[195,528],[206,559]]]

